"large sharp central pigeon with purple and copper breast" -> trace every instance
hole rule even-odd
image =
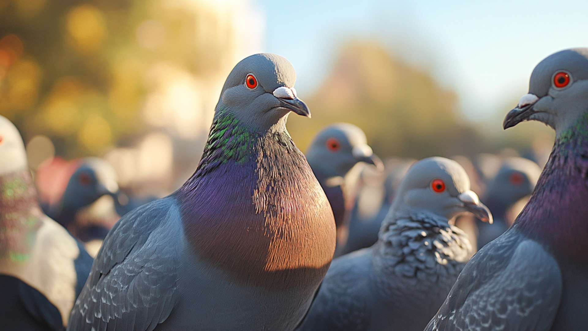
[[[335,251],[325,193],[286,131],[310,117],[283,57],[230,72],[195,173],[122,217],[68,330],[293,330]]]

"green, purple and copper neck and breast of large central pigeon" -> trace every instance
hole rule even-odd
[[[262,133],[215,118],[201,163],[176,192],[196,253],[268,287],[292,286],[285,277],[296,270],[324,273],[335,248],[328,200],[280,122]]]

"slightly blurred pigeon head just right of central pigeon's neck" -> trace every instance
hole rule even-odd
[[[383,170],[382,161],[373,154],[363,130],[349,123],[331,124],[320,130],[310,143],[306,158],[313,170],[320,168],[328,177],[344,177],[359,162]]]

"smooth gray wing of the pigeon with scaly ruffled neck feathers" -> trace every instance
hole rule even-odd
[[[371,254],[363,249],[333,260],[298,330],[365,330]]]

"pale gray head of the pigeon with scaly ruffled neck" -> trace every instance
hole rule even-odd
[[[466,171],[444,157],[429,157],[413,164],[400,183],[392,209],[429,211],[448,220],[473,213],[492,223],[492,214],[470,190]]]

